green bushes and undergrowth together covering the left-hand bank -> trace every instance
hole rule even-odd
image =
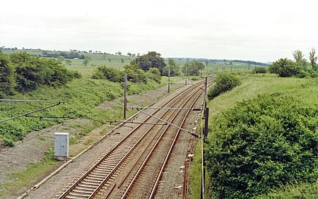
[[[71,80],[80,75],[67,70],[56,59],[30,56],[25,52],[9,55],[1,53],[0,58],[0,95],[2,97],[16,100],[67,101],[58,107],[41,111],[40,115],[44,116],[85,118],[91,119],[95,124],[105,123],[107,119],[119,119],[122,111],[98,109],[96,106],[105,100],[114,100],[123,95],[124,72],[129,73],[128,80],[131,82],[127,95],[162,86],[158,68],[150,68],[148,72],[144,72],[136,64],[125,66],[125,71],[112,69],[113,73],[108,74],[109,76],[106,76],[110,71],[107,71],[107,66],[100,66],[95,72],[100,75],[97,76],[98,78],[91,79],[90,76],[85,76],[81,79]],[[114,78],[114,73],[117,74],[119,80],[112,82],[110,80]],[[0,103],[0,120],[51,105],[34,102]],[[122,107],[116,109],[121,110]],[[22,140],[24,135],[30,131],[37,131],[61,121],[61,119],[38,121],[38,119],[30,117],[6,121],[0,123],[0,141],[3,140],[5,145],[10,146],[15,141]]]

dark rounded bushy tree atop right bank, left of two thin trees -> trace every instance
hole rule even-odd
[[[269,66],[270,73],[276,73],[279,77],[297,76],[300,73],[300,66],[289,59],[279,59]]]

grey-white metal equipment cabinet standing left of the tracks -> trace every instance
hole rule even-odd
[[[54,157],[60,160],[69,157],[69,133],[54,133]]]

